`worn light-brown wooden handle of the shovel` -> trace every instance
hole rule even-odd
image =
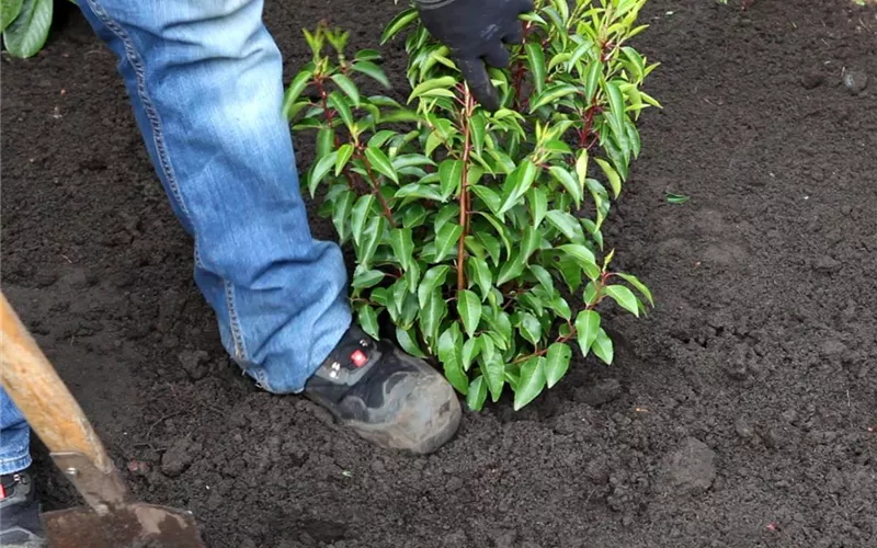
[[[101,472],[114,472],[113,461],[106,455],[79,403],[67,390],[2,292],[0,386],[50,452],[80,453]]]

